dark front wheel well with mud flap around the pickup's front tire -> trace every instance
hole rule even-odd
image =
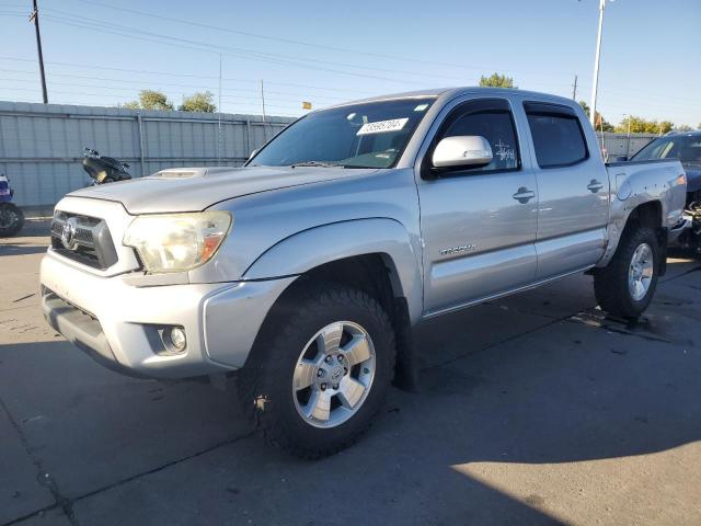
[[[416,371],[409,304],[403,296],[394,263],[387,254],[372,253],[343,258],[304,272],[278,298],[266,317],[261,332],[264,332],[268,322],[285,315],[288,300],[292,299],[298,290],[318,282],[333,282],[360,289],[382,306],[392,322],[397,342],[394,384],[401,388],[414,389]]]

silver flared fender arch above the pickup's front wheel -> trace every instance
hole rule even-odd
[[[410,319],[417,322],[423,309],[421,258],[404,226],[394,219],[333,222],[295,233],[261,254],[242,279],[300,275],[325,263],[374,253],[383,256],[394,296],[406,298]]]

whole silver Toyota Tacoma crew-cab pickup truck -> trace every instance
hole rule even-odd
[[[42,262],[48,322],[108,367],[233,371],[245,413],[299,456],[346,447],[412,327],[574,273],[637,317],[679,232],[679,161],[606,165],[582,108],[446,89],[310,113],[243,168],[163,170],[69,194]]]

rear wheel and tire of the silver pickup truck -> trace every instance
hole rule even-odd
[[[620,318],[640,317],[657,287],[659,256],[652,228],[625,231],[609,264],[594,273],[594,293],[601,309]]]

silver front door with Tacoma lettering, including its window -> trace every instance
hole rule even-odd
[[[432,136],[433,133],[433,136]],[[440,139],[479,135],[492,147],[484,168],[432,169]],[[509,102],[456,102],[429,133],[416,178],[424,243],[427,316],[532,283],[536,178],[524,168]]]

